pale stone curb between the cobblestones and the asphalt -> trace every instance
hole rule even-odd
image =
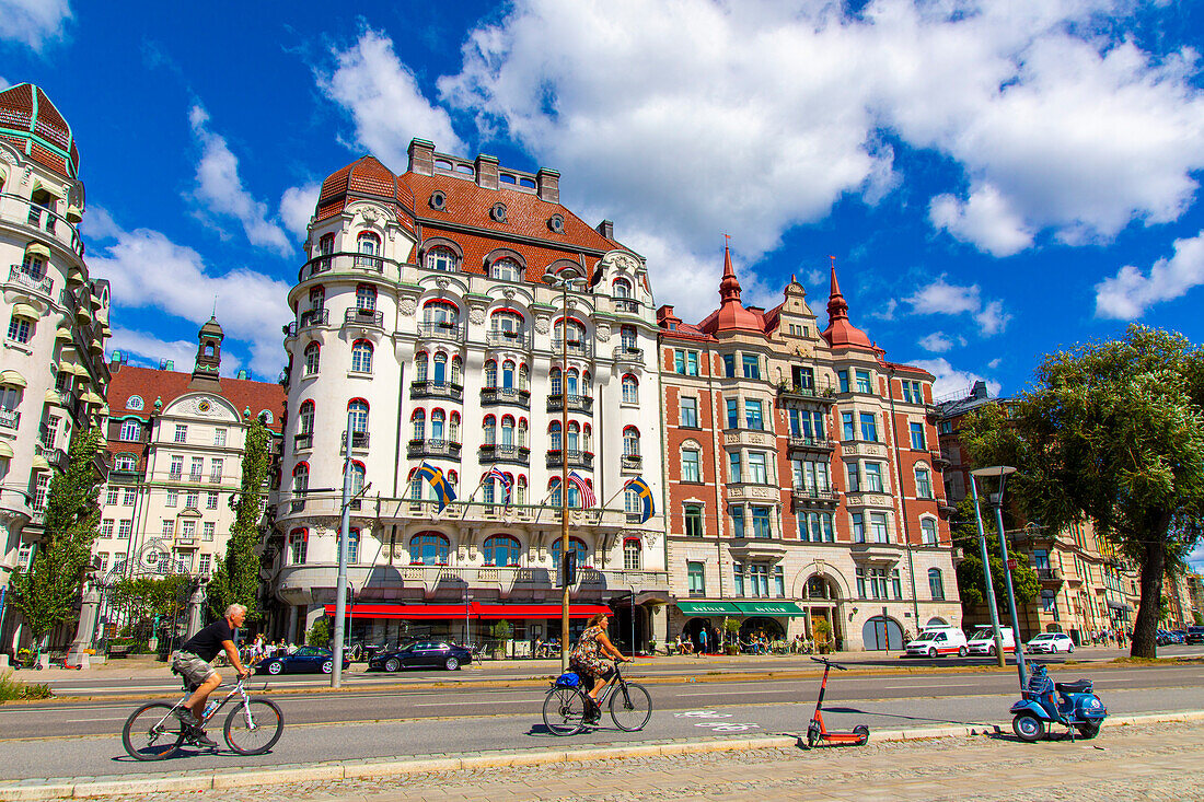
[[[1112,726],[1159,724],[1171,721],[1204,721],[1204,710],[1153,713],[1145,715],[1114,715]],[[958,738],[1002,731],[1001,725],[922,727],[917,730],[880,730],[874,741],[921,741],[926,738]],[[208,791],[247,788],[253,785],[284,785],[313,780],[361,779],[367,777],[403,777],[449,772],[464,768],[503,768],[509,766],[541,766],[548,763],[648,757],[654,755],[691,755],[712,751],[746,749],[789,749],[799,744],[798,736],[760,736],[754,738],[713,738],[708,741],[675,741],[665,743],[614,744],[586,747],[572,751],[510,750],[490,751],[462,757],[420,757],[414,760],[376,759],[346,763],[294,763],[240,771],[189,773],[125,774],[111,777],[76,777],[29,779],[0,783],[0,802],[31,800],[87,798],[113,795],[153,794],[155,791]]]

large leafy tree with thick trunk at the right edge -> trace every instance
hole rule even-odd
[[[1202,533],[1204,350],[1132,325],[1123,340],[1045,356],[1037,384],[1005,413],[963,427],[978,465],[1013,465],[1009,494],[1027,518],[1062,529],[1096,521],[1141,570],[1132,655],[1153,657],[1163,577]]]

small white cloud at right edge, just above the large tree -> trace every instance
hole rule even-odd
[[[1173,256],[1156,261],[1149,272],[1125,265],[1096,284],[1096,316],[1133,320],[1159,301],[1170,301],[1204,284],[1204,231],[1175,240]]]

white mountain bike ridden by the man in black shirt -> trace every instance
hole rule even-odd
[[[222,729],[225,742],[240,755],[261,755],[279,741],[284,731],[284,714],[276,702],[262,696],[250,696],[243,688],[243,682],[240,678],[220,702],[208,703],[201,725],[216,718],[226,702],[237,696],[238,701],[226,715]],[[177,715],[194,690],[196,689],[184,683],[184,695],[175,704],[148,702],[130,714],[122,730],[122,743],[130,757],[165,760],[175,755],[184,742],[196,743],[188,725]]]

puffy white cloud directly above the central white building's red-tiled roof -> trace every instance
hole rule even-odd
[[[464,148],[447,111],[423,95],[414,73],[397,58],[393,40],[367,29],[346,51],[332,52],[336,67],[315,71],[319,88],[343,106],[355,125],[354,145],[395,172],[405,172],[414,137],[444,152]]]

